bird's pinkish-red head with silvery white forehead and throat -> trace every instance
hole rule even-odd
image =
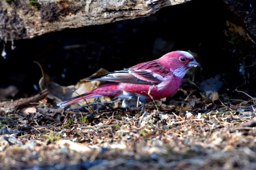
[[[184,51],[167,53],[158,61],[179,78],[183,78],[191,67],[200,66],[192,54]]]

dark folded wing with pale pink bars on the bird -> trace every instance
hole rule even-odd
[[[93,76],[85,79],[86,81],[103,80],[117,83],[133,83],[133,84],[159,84],[163,81],[163,76],[152,73],[149,70],[140,69],[123,69],[114,71],[101,76]]]

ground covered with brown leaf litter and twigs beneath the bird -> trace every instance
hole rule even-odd
[[[38,95],[0,103],[0,168],[254,169],[255,98],[209,91],[207,81],[199,90],[187,78],[141,113],[110,97],[55,108],[101,82],[64,87],[43,73]]]

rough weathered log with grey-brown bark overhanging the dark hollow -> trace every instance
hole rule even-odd
[[[0,39],[27,39],[64,28],[134,19],[187,1],[191,0],[4,0]]]

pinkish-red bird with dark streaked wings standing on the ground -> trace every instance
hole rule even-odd
[[[106,81],[85,94],[78,95],[57,104],[65,107],[76,101],[101,96],[118,97],[126,100],[159,100],[174,95],[182,79],[191,67],[200,64],[189,52],[176,50],[158,59],[138,63],[127,69],[113,71],[100,76],[90,76],[86,81]],[[125,107],[125,102],[122,104]]]

